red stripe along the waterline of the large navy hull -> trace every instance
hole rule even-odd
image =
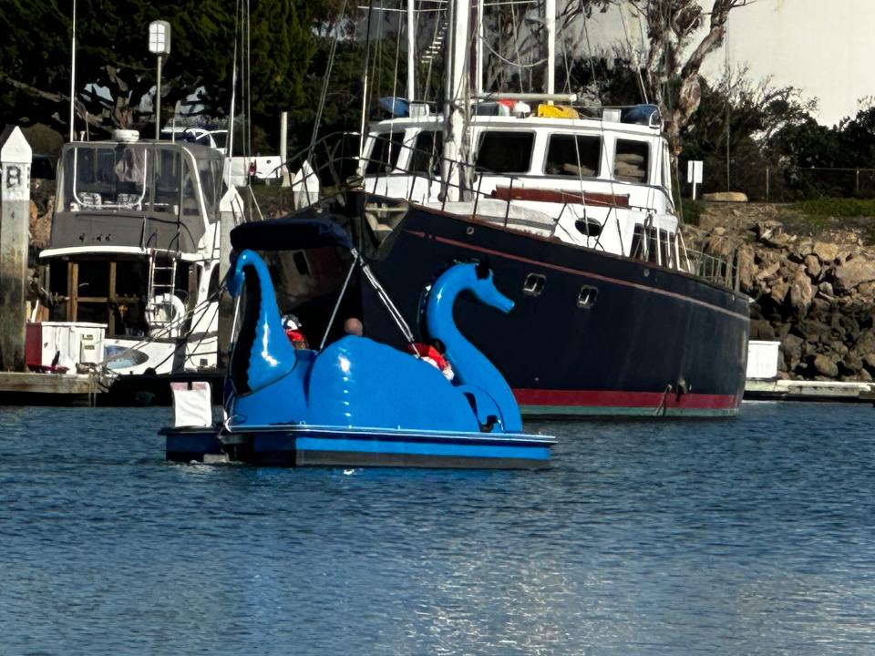
[[[542,390],[515,389],[513,395],[520,405],[580,405],[582,407],[659,407],[716,410],[735,408],[736,395],[681,395],[673,392],[619,392],[612,390]]]

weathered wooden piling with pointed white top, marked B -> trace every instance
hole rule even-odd
[[[21,128],[0,137],[0,371],[25,370],[32,151]]]

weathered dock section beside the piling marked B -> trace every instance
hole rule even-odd
[[[88,374],[0,372],[0,405],[94,405],[103,391]]]

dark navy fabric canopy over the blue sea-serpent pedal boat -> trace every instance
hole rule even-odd
[[[235,251],[301,251],[339,246],[353,248],[349,235],[332,220],[285,217],[242,223],[231,231]]]

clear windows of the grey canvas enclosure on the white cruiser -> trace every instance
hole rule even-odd
[[[209,220],[221,194],[221,154],[164,143],[67,146],[58,172],[57,209],[125,210]]]

